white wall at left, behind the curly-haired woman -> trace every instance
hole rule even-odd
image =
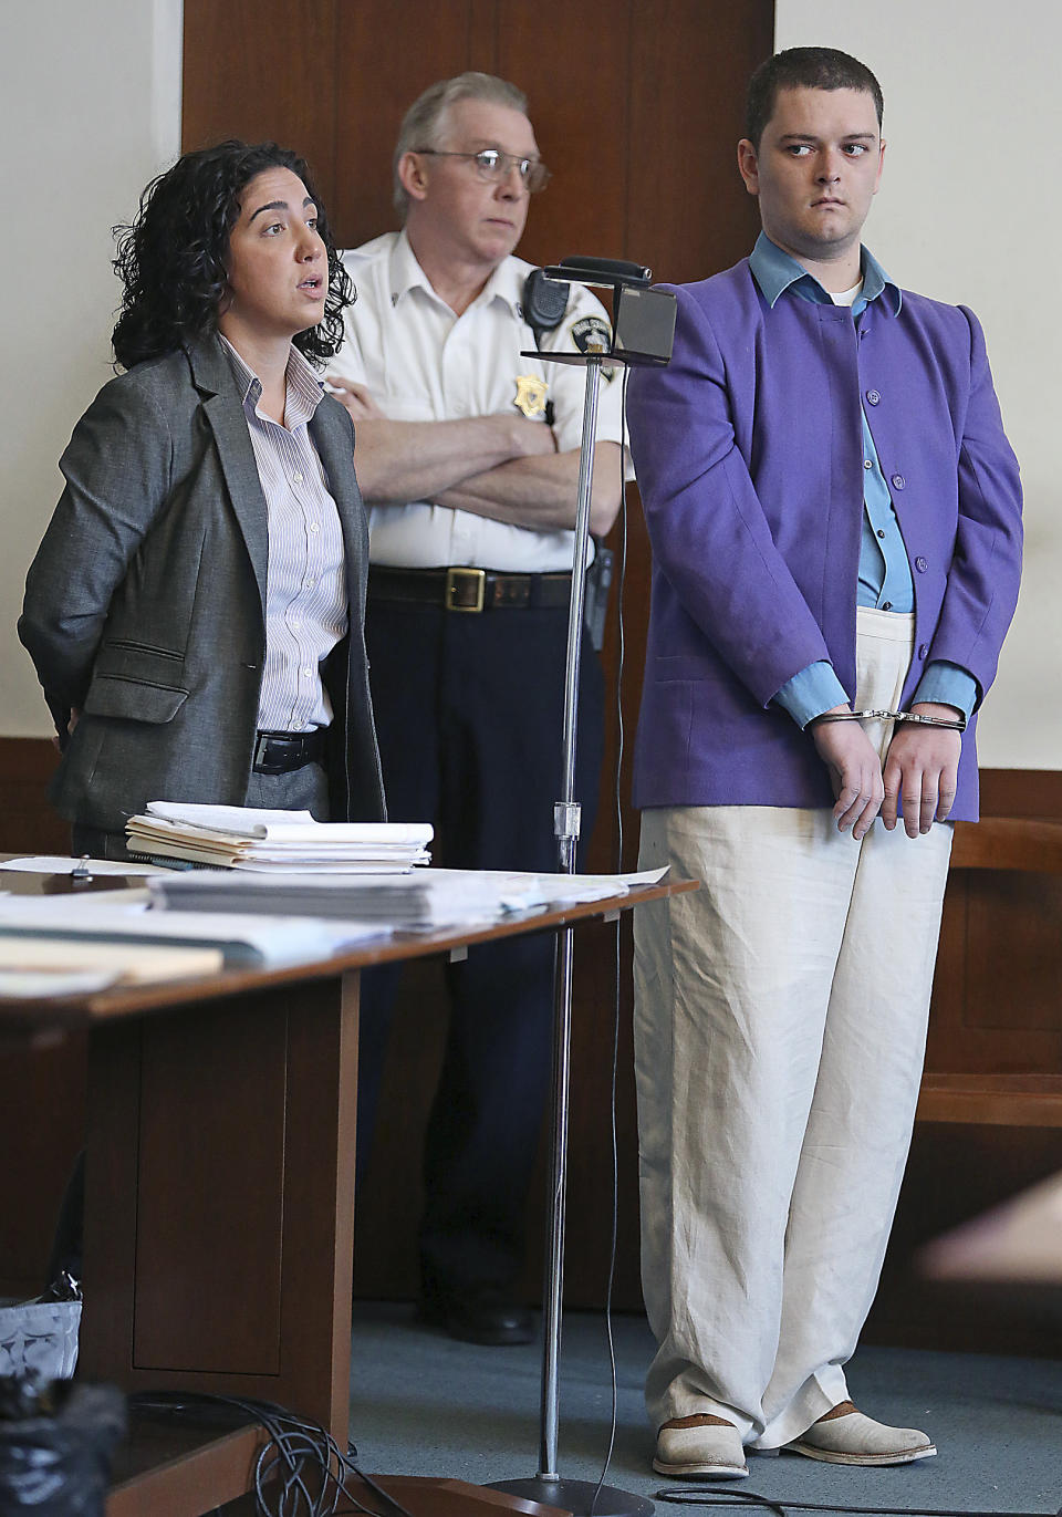
[[[15,637],[74,422],[111,378],[111,226],[181,143],[182,0],[0,0],[0,736],[50,731]]]

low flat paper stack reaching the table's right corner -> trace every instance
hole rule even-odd
[[[543,912],[577,901],[624,895],[651,875],[517,874],[479,869],[417,869],[407,875],[272,874],[269,878],[217,869],[152,880],[153,900],[182,912],[297,912],[308,916],[385,924],[394,931],[429,931]]]

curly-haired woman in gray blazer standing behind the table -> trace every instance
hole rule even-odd
[[[18,633],[74,851],[147,801],[378,819],[353,426],[311,364],[353,291],[305,162],[187,153],[121,231],[124,369],[74,428]]]

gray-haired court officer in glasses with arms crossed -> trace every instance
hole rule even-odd
[[[358,299],[329,381],[355,420],[369,505],[366,637],[390,815],[432,821],[434,860],[452,868],[557,868],[584,370],[520,350],[586,350],[607,317],[573,287],[552,329],[536,334],[526,319],[531,265],[513,249],[548,177],[522,91],[479,73],[440,80],[399,132],[404,231],[344,256]],[[616,381],[602,385],[598,414],[598,536],[616,517],[621,472]],[[601,667],[584,648],[584,840],[601,721]],[[420,1309],[460,1338],[523,1343],[531,1317],[517,1279],[549,1079],[552,942],[482,945],[448,974],[451,1024],[425,1142]],[[366,978],[364,1136],[394,975]]]

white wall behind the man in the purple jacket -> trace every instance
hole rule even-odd
[[[1026,490],[1026,570],[979,724],[986,768],[1062,768],[1062,5],[777,0],[775,47],[840,47],[884,94],[865,240],[892,278],[982,319]]]

